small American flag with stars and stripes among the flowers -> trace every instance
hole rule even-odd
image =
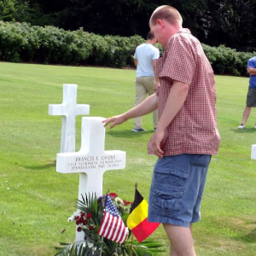
[[[104,215],[98,234],[118,243],[124,243],[128,236],[128,229],[125,227],[119,211],[114,206],[108,194],[106,196]]]

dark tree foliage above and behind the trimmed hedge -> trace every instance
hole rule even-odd
[[[150,15],[163,4],[177,8],[183,26],[204,44],[243,51],[256,48],[255,0],[3,0],[0,20],[145,38]]]

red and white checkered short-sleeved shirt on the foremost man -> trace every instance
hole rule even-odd
[[[181,29],[166,44],[163,56],[157,60],[160,78],[158,96],[159,118],[174,80],[189,84],[183,107],[166,127],[162,149],[164,155],[217,154],[220,137],[216,118],[216,89],[212,67],[189,29]],[[152,138],[148,154],[154,154]]]

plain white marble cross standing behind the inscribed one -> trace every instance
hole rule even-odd
[[[63,84],[63,102],[49,105],[49,115],[62,115],[61,153],[75,151],[76,117],[89,114],[90,106],[77,104],[77,84]]]

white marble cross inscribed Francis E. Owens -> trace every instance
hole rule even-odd
[[[82,118],[82,142],[79,152],[57,154],[56,171],[61,173],[80,173],[79,200],[89,192],[102,195],[103,174],[108,170],[125,168],[125,152],[105,151],[104,118]],[[76,241],[84,240],[82,232],[77,232]]]

